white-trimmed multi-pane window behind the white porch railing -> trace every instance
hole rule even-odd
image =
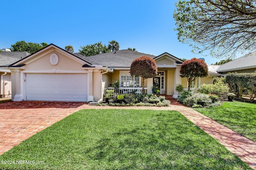
[[[140,77],[131,76],[130,74],[120,75],[120,87],[139,87]]]

